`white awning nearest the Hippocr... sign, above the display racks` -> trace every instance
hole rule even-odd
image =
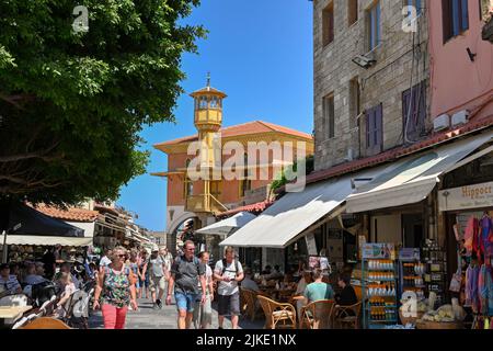
[[[439,182],[439,176],[484,155],[479,151],[465,159],[492,138],[490,131],[392,163],[347,197],[346,212],[397,207],[425,200]]]

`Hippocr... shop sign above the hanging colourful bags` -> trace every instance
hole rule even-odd
[[[493,207],[493,182],[439,191],[438,207],[440,211]]]

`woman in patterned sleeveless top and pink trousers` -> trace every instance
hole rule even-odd
[[[98,274],[93,308],[101,308],[105,329],[124,329],[128,305],[138,309],[136,276],[125,267],[125,248],[115,248],[111,259],[112,262]]]

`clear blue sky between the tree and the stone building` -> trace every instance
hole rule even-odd
[[[202,0],[183,21],[208,31],[198,55],[185,54],[182,69],[190,93],[203,88],[207,71],[211,86],[225,91],[223,125],[254,120],[302,132],[313,129],[312,2],[309,0]],[[167,170],[167,156],[156,143],[193,135],[193,101],[177,100],[176,124],[147,127],[145,149],[151,151],[148,173],[122,189],[118,205],[138,214],[137,223],[165,229],[167,181],[150,172]]]

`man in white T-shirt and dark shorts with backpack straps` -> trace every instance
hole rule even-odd
[[[241,263],[234,258],[234,249],[226,248],[222,260],[217,261],[214,269],[214,279],[218,281],[218,321],[219,329],[222,329],[225,316],[231,316],[232,329],[238,328],[240,315],[240,291],[238,282],[244,278]]]

